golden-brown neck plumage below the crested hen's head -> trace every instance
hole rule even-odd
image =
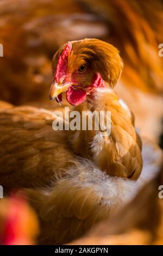
[[[75,107],[79,111],[111,111],[111,134],[101,131],[71,131],[70,142],[76,154],[90,156],[110,175],[137,179],[142,169],[141,139],[134,129],[133,115],[124,109],[116,94],[98,93],[96,100]],[[94,125],[94,123],[93,123]]]

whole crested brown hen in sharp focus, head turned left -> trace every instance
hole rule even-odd
[[[111,111],[111,133],[104,142],[101,130],[77,136],[54,132],[52,112],[45,109],[1,108],[1,185],[8,193],[28,187],[24,191],[40,218],[40,244],[76,239],[120,210],[158,171],[162,154],[145,142],[141,174],[141,140],[133,114],[112,90],[121,69],[117,49],[97,39],[68,42],[53,58],[51,99],[61,102],[65,92],[72,111]]]

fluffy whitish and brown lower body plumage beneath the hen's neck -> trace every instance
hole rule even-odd
[[[143,139],[142,156],[144,165],[136,181],[109,176],[90,160],[79,158],[66,170],[67,175],[56,179],[51,186],[26,190],[40,220],[39,243],[54,245],[70,242],[87,230],[91,231],[99,221],[109,218],[111,222],[142,185],[159,172],[162,151],[155,144]]]

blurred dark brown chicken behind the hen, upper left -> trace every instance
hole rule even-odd
[[[74,0],[3,0],[0,16],[1,100],[15,105],[47,101],[51,60],[60,45],[107,33],[100,19],[83,13]]]

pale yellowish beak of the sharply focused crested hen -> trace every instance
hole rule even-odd
[[[49,90],[49,99],[54,100],[59,94],[67,92],[70,85],[70,83],[59,85],[57,82],[53,82],[51,89]]]

